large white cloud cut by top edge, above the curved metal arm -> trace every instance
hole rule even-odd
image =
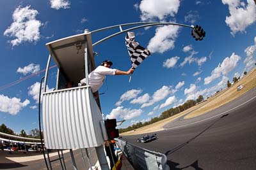
[[[174,17],[180,6],[179,0],[142,0],[140,3],[141,20],[147,21],[154,18],[164,20],[166,17]]]

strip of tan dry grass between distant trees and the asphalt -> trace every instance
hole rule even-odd
[[[237,91],[237,86],[241,84],[243,85],[243,89]],[[181,117],[182,115],[185,115],[191,112],[185,118],[198,117],[199,115],[207,113],[220,106],[223,106],[226,103],[229,103],[230,101],[233,101],[234,99],[243,95],[244,93],[248,92],[254,87],[256,87],[256,68],[250,71],[250,73],[246,74],[246,76],[243,76],[243,78],[241,78],[241,80],[239,80],[237,83],[234,83],[231,87],[225,90],[222,90],[218,94],[210,97],[204,103],[197,104],[196,106],[193,106],[192,108],[189,108],[186,111],[182,111],[181,113],[173,117],[166,118],[164,120],[161,120],[151,125],[147,125],[145,127],[141,127],[139,129],[136,129],[136,131],[124,132],[121,135],[125,136],[125,135],[145,134],[148,132],[163,131],[164,130],[163,126],[165,124],[167,124],[168,122],[171,122],[172,120],[175,120],[176,118]]]

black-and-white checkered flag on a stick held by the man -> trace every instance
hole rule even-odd
[[[134,40],[134,32],[127,32],[125,36],[125,45],[127,46],[128,53],[131,57],[132,69],[136,69],[141,62],[150,55],[150,51],[140,46],[140,44]],[[131,81],[131,76],[130,80]]]

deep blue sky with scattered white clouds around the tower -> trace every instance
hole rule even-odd
[[[126,120],[122,127],[145,122],[188,99],[211,96],[227,80],[242,76],[255,63],[256,5],[253,0],[222,1],[0,1],[0,124],[15,132],[38,128],[39,82],[48,51],[45,43],[84,29],[129,22],[163,21],[202,25],[203,41],[191,29],[177,26],[134,30],[136,41],[152,55],[129,76],[108,76],[99,92],[102,112]],[[113,31],[92,34],[96,42]],[[96,64],[112,60],[113,67],[131,67],[125,34],[93,48]],[[41,71],[40,74],[37,74]],[[54,88],[51,69],[49,90]]]

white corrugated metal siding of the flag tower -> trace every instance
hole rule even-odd
[[[42,112],[46,148],[74,149],[102,145],[102,113],[89,87],[45,92]]]

